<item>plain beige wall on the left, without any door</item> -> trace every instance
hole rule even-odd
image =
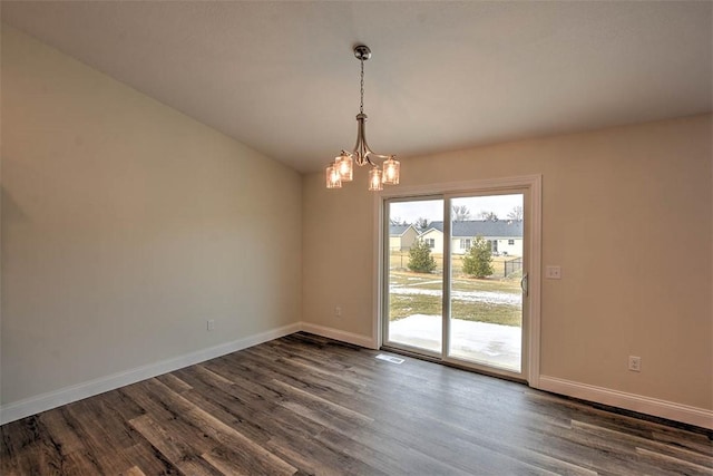
[[[297,173],[7,26],[1,66],[3,404],[300,321]]]

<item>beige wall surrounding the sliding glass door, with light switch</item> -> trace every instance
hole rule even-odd
[[[543,174],[541,375],[712,409],[712,139],[711,116],[616,127],[402,158],[401,183]],[[303,182],[303,319],[372,336],[364,174]]]

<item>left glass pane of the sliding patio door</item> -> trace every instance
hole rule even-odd
[[[385,208],[385,343],[440,357],[443,201],[390,201]]]

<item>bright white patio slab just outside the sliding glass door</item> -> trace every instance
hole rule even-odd
[[[413,314],[389,322],[389,340],[441,351],[440,315]],[[450,354],[519,371],[521,328],[451,319]]]

